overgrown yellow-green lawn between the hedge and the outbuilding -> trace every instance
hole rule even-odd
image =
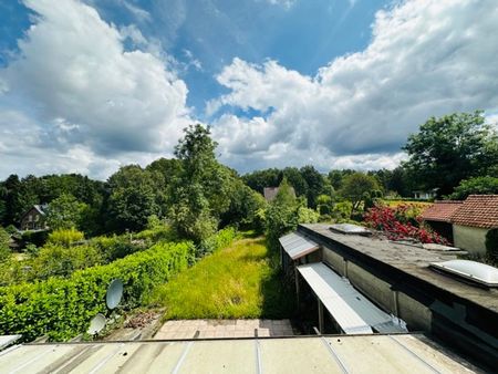
[[[235,241],[153,293],[165,319],[289,318],[293,294],[282,284],[263,238]]]

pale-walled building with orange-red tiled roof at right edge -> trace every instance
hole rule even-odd
[[[452,216],[452,224],[456,247],[486,253],[486,235],[498,228],[498,195],[470,195]]]

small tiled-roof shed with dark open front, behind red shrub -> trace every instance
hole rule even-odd
[[[453,242],[452,217],[463,204],[464,201],[436,200],[422,212],[421,217],[434,231]]]

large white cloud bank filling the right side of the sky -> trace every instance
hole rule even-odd
[[[497,19],[492,1],[406,1],[376,13],[364,51],[314,76],[276,61],[235,59],[217,76],[229,93],[209,102],[207,112],[232,106],[261,114],[221,116],[215,133],[225,157],[252,148],[271,155],[280,143],[282,160],[319,149],[330,165],[362,159],[366,168],[398,159],[406,136],[427,117],[496,107]]]

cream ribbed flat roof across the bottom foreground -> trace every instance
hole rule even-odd
[[[474,373],[418,334],[25,344],[1,373]]]

